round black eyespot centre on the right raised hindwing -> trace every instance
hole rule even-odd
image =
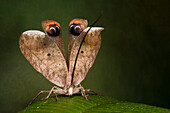
[[[72,25],[70,26],[70,33],[71,33],[72,35],[75,35],[75,36],[80,35],[80,33],[81,33],[81,27],[80,27],[80,25],[79,25],[79,24],[72,24]]]

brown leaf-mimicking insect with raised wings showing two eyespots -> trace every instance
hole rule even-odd
[[[44,98],[47,99],[51,93],[72,95],[78,92],[88,100],[85,91],[94,92],[84,89],[80,83],[96,59],[101,44],[101,31],[104,28],[87,25],[85,19],[73,19],[69,23],[67,60],[58,22],[42,21],[45,33],[28,30],[21,34],[19,45],[23,55],[38,72],[55,84],[50,91],[40,91],[33,101],[41,93],[49,93]]]

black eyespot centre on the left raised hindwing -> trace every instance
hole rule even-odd
[[[49,36],[58,36],[60,34],[60,28],[56,24],[49,26],[49,31],[47,34]]]

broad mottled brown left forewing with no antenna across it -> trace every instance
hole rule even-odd
[[[55,38],[29,30],[20,36],[20,49],[30,64],[50,82],[64,87],[68,69]]]

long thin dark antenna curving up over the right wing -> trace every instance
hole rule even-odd
[[[90,29],[99,21],[99,19],[102,17],[103,13],[100,14],[100,16],[93,22],[93,24],[90,26],[90,28],[88,29],[88,31],[86,32],[86,34],[84,35],[83,37],[83,40],[81,41],[80,43],[80,46],[79,46],[79,49],[78,49],[78,52],[77,52],[77,55],[76,55],[76,59],[75,59],[75,62],[74,62],[74,67],[73,67],[73,73],[72,73],[72,78],[71,78],[71,84],[73,85],[73,78],[74,78],[74,72],[75,72],[75,68],[76,68],[76,63],[77,63],[77,58],[79,56],[79,53],[80,53],[80,49],[81,49],[81,46],[83,45],[83,42],[87,36],[87,33],[90,31]]]

